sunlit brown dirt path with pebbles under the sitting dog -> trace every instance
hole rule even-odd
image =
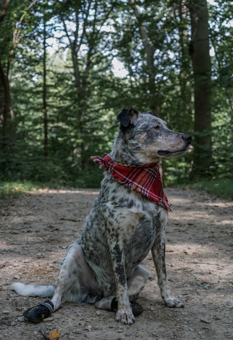
[[[10,290],[14,282],[55,284],[59,262],[82,230],[97,190],[39,190],[0,208],[0,339],[43,339],[39,330],[58,329],[59,339],[233,339],[233,204],[195,190],[168,189],[174,211],[166,230],[167,274],[183,309],[160,298],[151,254],[138,302],[144,312],[131,326],[114,312],[64,302],[40,324],[18,321],[43,299]]]

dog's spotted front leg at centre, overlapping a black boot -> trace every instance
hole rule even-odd
[[[131,325],[135,322],[135,318],[132,313],[128,296],[123,245],[119,240],[115,242],[111,240],[109,249],[117,289],[118,310],[116,320],[121,321],[125,325],[127,323]]]

